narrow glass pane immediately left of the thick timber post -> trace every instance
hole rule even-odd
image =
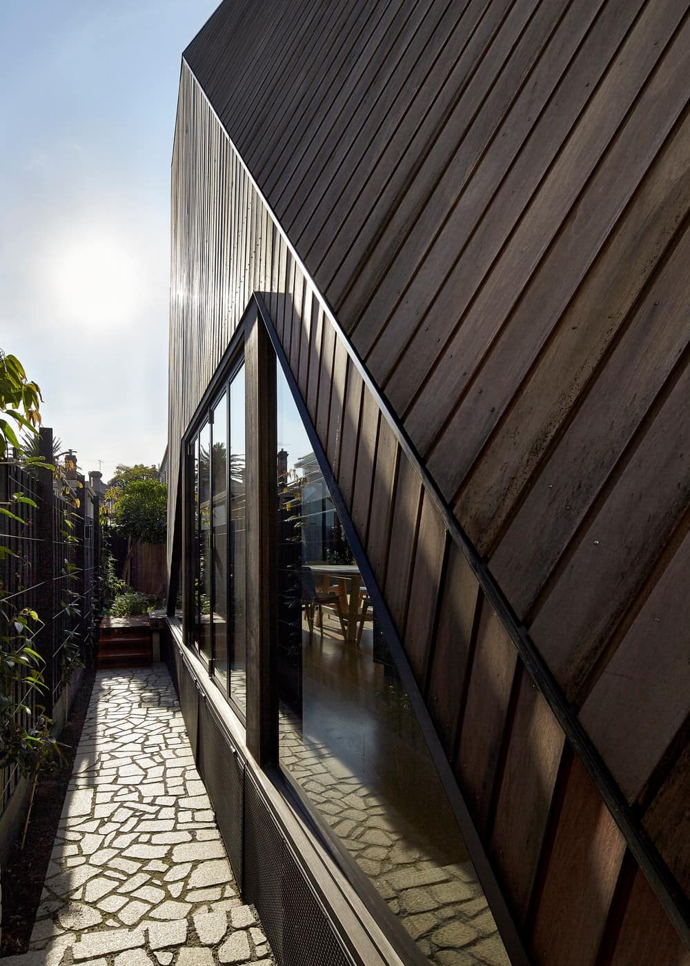
[[[246,707],[246,497],[244,491],[244,365],[230,384],[230,573],[232,669],[230,696]]]

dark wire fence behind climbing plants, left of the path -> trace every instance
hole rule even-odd
[[[42,430],[41,436],[41,448],[49,462],[52,432]],[[30,620],[29,643],[43,657],[43,691],[37,693],[18,682],[12,694],[14,702],[23,699],[32,718],[42,708],[48,717],[54,716],[64,695],[71,652],[78,652],[80,661],[90,667],[98,644],[99,497],[82,476],[74,476],[54,484],[49,469],[31,469],[13,461],[0,463],[0,505],[24,521],[0,515],[0,546],[11,551],[0,558],[0,607],[6,614],[3,623],[7,625],[7,616],[25,608],[40,617],[39,622]],[[16,502],[14,494],[29,497],[36,506]],[[29,716],[23,718],[21,724],[28,725]],[[15,766],[0,769],[0,814],[18,780]]]

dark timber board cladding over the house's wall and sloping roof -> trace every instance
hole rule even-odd
[[[170,506],[257,291],[537,963],[690,961],[688,76],[680,0],[226,0],[183,63]]]

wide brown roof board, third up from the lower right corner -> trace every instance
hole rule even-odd
[[[689,505],[690,366],[677,374],[532,622],[532,638],[569,698],[581,698],[594,661]]]

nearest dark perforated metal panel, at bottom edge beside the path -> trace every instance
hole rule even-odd
[[[244,835],[244,895],[280,966],[352,966],[248,773]]]

